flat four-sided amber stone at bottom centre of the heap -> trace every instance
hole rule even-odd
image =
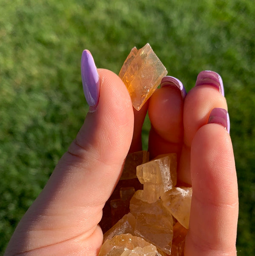
[[[172,216],[140,213],[137,215],[135,235],[154,244],[164,253],[171,253],[173,237]]]

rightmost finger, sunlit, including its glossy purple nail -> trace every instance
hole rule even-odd
[[[209,119],[211,123],[202,126],[192,141],[193,194],[185,256],[236,255],[238,186],[235,160],[226,130],[227,118],[224,123],[222,111],[214,113],[216,115],[211,114]]]

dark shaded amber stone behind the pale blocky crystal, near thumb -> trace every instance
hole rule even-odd
[[[136,166],[149,161],[148,151],[137,151],[126,156],[123,172],[120,180],[129,180],[136,178]]]

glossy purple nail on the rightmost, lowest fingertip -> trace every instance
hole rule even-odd
[[[220,124],[228,131],[228,133],[230,131],[229,113],[226,109],[214,108],[209,116],[208,124],[210,123]]]

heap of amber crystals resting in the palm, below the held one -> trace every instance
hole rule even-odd
[[[176,186],[176,154],[148,158],[146,151],[127,156],[103,211],[101,226],[108,221],[112,227],[104,233],[99,256],[183,255],[192,188]]]

